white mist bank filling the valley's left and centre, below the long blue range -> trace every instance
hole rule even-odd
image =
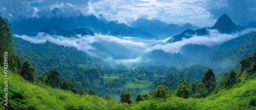
[[[143,42],[136,42],[133,41],[134,39],[140,40],[134,37],[125,37],[125,38],[118,38],[114,36],[108,35],[101,35],[95,34],[92,35],[77,35],[76,37],[63,37],[63,36],[52,36],[46,33],[38,33],[36,36],[27,36],[27,35],[17,35],[15,36],[23,38],[25,40],[29,40],[34,43],[42,43],[45,42],[47,39],[53,41],[59,45],[75,47],[78,50],[82,50],[87,52],[92,56],[96,56],[105,60],[113,60],[113,61],[126,61],[131,62],[134,60],[139,60],[139,56],[141,53],[144,53],[145,49],[150,47],[152,43],[156,43],[157,41],[149,41],[151,43],[143,43]],[[141,40],[140,40],[141,41]],[[106,58],[102,56],[100,52],[98,52],[95,47],[92,46],[93,43],[100,43],[103,48],[114,55],[121,55],[124,56],[124,59],[114,59],[114,58]],[[124,55],[123,55],[124,54]],[[135,56],[135,57],[131,57]]]

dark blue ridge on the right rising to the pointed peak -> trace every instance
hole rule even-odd
[[[229,18],[229,16],[227,16],[226,14],[223,14],[217,20],[215,25],[212,26],[211,28],[205,27],[202,29],[197,29],[196,31],[188,29],[188,30],[183,31],[181,34],[178,34],[178,35],[170,38],[166,43],[182,40],[183,37],[190,38],[194,35],[198,35],[198,36],[206,35],[206,34],[208,34],[208,29],[217,29],[221,33],[231,34],[231,33],[237,32],[237,31],[244,30],[245,28],[241,27],[241,26],[237,26],[236,24],[233,23],[233,21]]]

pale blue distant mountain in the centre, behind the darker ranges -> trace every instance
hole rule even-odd
[[[161,39],[172,37],[174,35],[181,33],[186,29],[192,29],[192,30],[199,29],[199,27],[193,26],[189,23],[186,23],[182,27],[179,27],[178,25],[174,25],[174,24],[167,25],[166,23],[164,23],[163,21],[160,21],[159,19],[149,20],[144,18],[139,18],[135,20],[130,25],[130,27],[138,28],[142,31],[151,33]]]

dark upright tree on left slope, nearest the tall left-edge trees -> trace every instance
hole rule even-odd
[[[20,71],[20,75],[30,82],[34,82],[35,69],[31,66],[29,61],[25,61],[23,63],[22,70]]]

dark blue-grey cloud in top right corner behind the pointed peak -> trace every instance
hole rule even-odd
[[[218,0],[209,1],[205,6],[209,13],[212,14],[212,19],[219,18],[222,14],[227,14],[234,23],[245,25],[252,21],[256,21],[256,1],[245,0]]]

